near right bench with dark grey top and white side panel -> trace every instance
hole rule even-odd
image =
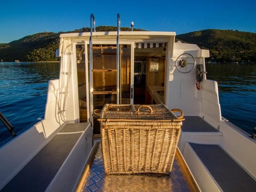
[[[249,192],[256,189],[255,178],[219,145],[187,142],[183,155],[199,187],[207,186],[202,191]]]

